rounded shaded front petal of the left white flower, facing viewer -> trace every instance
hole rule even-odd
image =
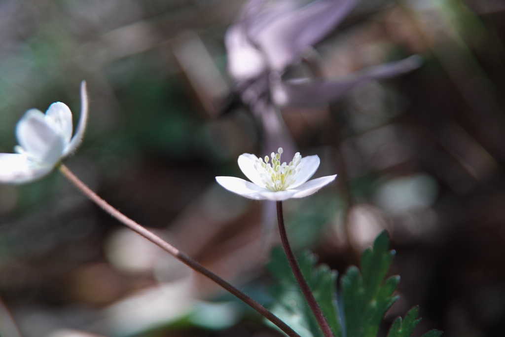
[[[16,137],[27,155],[39,161],[54,164],[63,153],[63,136],[36,109],[28,110],[18,122]]]

